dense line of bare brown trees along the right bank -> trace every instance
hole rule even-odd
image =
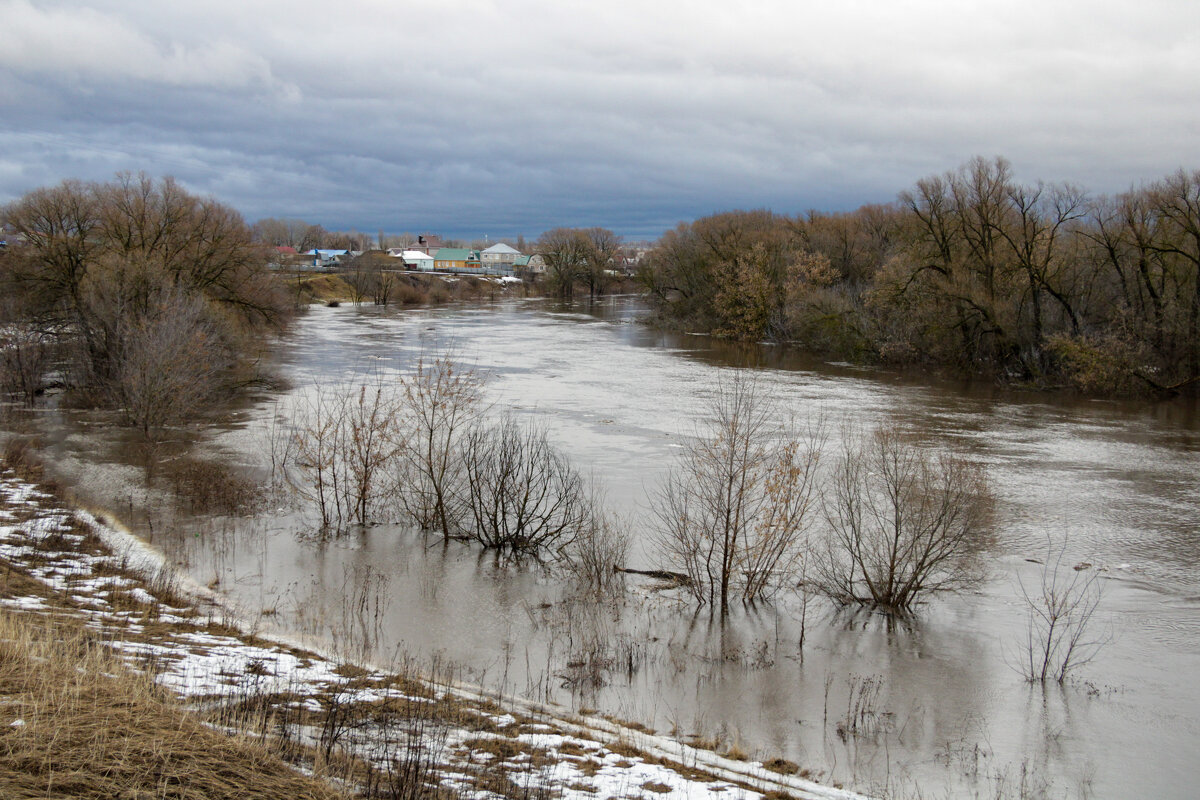
[[[660,319],[733,339],[1096,393],[1200,381],[1200,172],[1090,197],[977,157],[887,205],[680,224],[641,276]]]

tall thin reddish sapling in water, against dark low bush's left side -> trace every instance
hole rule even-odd
[[[449,353],[422,356],[415,372],[400,379],[404,446],[397,498],[415,524],[445,537],[457,533],[466,512],[457,449],[482,411],[482,377]]]

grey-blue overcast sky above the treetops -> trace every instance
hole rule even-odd
[[[250,222],[654,237],[973,155],[1200,168],[1195,0],[0,0],[0,201],[144,170]]]

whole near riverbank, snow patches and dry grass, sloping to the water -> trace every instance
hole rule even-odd
[[[118,788],[178,798],[858,796],[786,762],[737,760],[490,696],[457,682],[446,664],[397,657],[390,668],[365,667],[272,640],[115,521],[71,509],[36,477],[0,471],[6,796],[30,796],[30,780],[72,798]],[[37,674],[42,663],[79,679],[49,680]],[[36,690],[59,685],[86,688],[59,705],[74,710],[48,714]],[[95,712],[78,712],[78,703]],[[109,705],[120,712],[102,714]],[[46,736],[53,747],[42,746]],[[34,769],[40,751],[54,756]]]

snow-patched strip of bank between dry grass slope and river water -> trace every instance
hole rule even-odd
[[[566,800],[862,796],[608,720],[445,679],[416,680],[409,670],[348,668],[294,643],[253,636],[220,596],[187,584],[148,545],[11,473],[0,475],[0,560],[47,588],[40,595],[0,590],[0,606],[85,619],[132,667],[197,705],[263,698],[289,711],[295,735],[313,741],[335,708],[451,705],[452,722],[418,714],[419,727],[408,718],[400,727],[428,740],[422,746],[436,754],[437,780],[460,796],[503,796],[484,775],[503,776],[526,796]],[[386,766],[402,753],[380,748],[382,735],[378,723],[362,726],[340,745]]]

